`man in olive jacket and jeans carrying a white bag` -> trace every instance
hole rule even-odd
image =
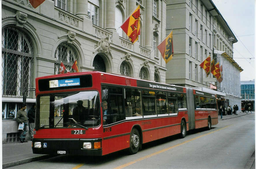
[[[17,122],[19,122],[20,124],[24,123],[24,128],[23,128],[24,131],[21,133],[21,136],[20,136],[21,143],[27,142],[25,140],[26,134],[28,133],[27,112],[25,111],[26,108],[27,108],[27,105],[23,104],[21,109],[18,110],[17,116],[16,116]]]

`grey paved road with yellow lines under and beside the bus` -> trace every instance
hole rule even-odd
[[[220,120],[213,127],[193,130],[184,139],[172,136],[144,144],[134,155],[62,155],[13,168],[245,168],[255,151],[255,115]]]

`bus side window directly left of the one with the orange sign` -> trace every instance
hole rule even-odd
[[[125,89],[125,117],[142,116],[140,91]]]

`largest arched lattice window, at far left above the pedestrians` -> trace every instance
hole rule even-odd
[[[2,29],[2,94],[22,96],[33,88],[34,53],[31,39],[24,32],[5,27]]]

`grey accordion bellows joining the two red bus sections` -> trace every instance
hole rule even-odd
[[[195,107],[193,89],[187,88],[187,104],[188,104],[188,126],[189,130],[194,129],[195,125]]]

